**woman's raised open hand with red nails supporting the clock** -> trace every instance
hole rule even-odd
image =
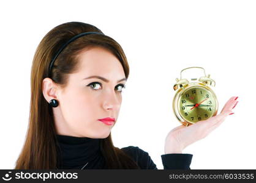
[[[165,138],[165,154],[182,153],[186,146],[205,138],[232,113],[232,109],[237,103],[236,96],[233,96],[226,102],[219,115],[208,118],[207,120],[198,121],[190,126],[181,124],[181,126],[172,129]]]

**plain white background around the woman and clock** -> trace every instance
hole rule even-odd
[[[115,146],[138,146],[162,169],[165,137],[180,125],[171,107],[175,79],[184,68],[201,66],[216,81],[219,112],[230,97],[239,102],[234,115],[184,149],[193,154],[190,168],[256,168],[255,1],[2,1],[0,7],[0,169],[14,168],[23,146],[37,45],[69,21],[99,27],[129,61],[111,132]]]

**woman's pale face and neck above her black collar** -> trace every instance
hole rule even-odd
[[[59,106],[53,108],[53,112],[57,133],[106,138],[116,122],[109,126],[99,119],[109,117],[117,120],[121,91],[126,83],[124,70],[110,51],[100,47],[81,52],[79,62],[79,71],[69,74],[67,87],[58,88],[56,93]]]

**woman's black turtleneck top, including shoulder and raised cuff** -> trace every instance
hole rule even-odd
[[[105,160],[100,152],[100,138],[56,135],[59,146],[58,169],[104,169]],[[137,146],[121,148],[141,169],[157,169],[148,152]],[[162,154],[164,169],[190,169],[192,154]]]

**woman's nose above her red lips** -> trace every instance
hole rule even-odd
[[[116,92],[118,91],[106,91],[103,102],[104,109],[119,109],[121,105],[121,96]]]

